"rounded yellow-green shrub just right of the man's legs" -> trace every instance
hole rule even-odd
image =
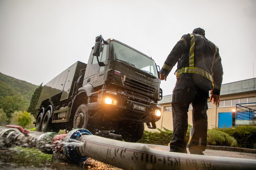
[[[237,147],[237,141],[229,134],[213,129],[207,132],[207,145]]]

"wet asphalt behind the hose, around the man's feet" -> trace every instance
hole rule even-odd
[[[150,148],[159,149],[162,151],[169,151],[169,146],[147,144]],[[187,148],[189,153],[189,149]],[[203,152],[204,155],[208,156],[223,156],[230,158],[244,158],[244,159],[254,159],[256,160],[256,149],[245,149],[245,148],[232,148],[225,146],[207,146],[206,150]]]

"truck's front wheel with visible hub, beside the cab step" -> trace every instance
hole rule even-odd
[[[80,105],[73,118],[73,129],[85,129],[88,124],[88,108],[85,104]]]

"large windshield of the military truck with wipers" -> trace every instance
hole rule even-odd
[[[126,64],[132,65],[137,69],[143,70],[155,77],[158,77],[156,64],[145,55],[118,42],[111,41],[111,57]]]

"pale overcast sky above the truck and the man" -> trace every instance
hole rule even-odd
[[[0,72],[46,84],[76,61],[87,63],[100,34],[162,67],[197,27],[220,49],[223,84],[256,76],[256,0],[0,0]],[[161,82],[164,95],[175,70]]]

